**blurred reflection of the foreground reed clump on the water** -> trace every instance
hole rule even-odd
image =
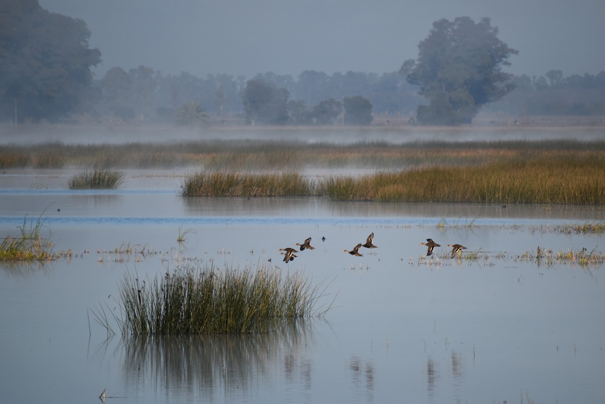
[[[267,334],[125,337],[124,380],[136,391],[153,389],[189,399],[241,397],[260,380],[284,376],[296,389],[312,389],[313,363],[304,356],[314,320],[286,322]]]

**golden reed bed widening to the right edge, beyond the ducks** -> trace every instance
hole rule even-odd
[[[335,200],[470,203],[605,203],[605,158],[536,157],[481,166],[432,166],[360,177],[327,177],[319,195]]]

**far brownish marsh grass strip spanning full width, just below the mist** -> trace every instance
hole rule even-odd
[[[571,160],[592,158],[605,152],[605,142],[577,140],[448,142],[416,141],[309,143],[307,131],[284,131],[284,140],[204,140],[176,143],[122,143],[71,145],[7,145],[0,150],[1,168],[99,166],[159,168],[198,166],[220,171],[284,171],[313,168],[355,167],[401,170],[427,166],[482,166],[496,161],[526,161],[536,157]],[[166,134],[167,138],[169,134]],[[371,134],[368,134],[370,136]],[[402,134],[403,135],[403,134]],[[300,140],[298,140],[300,138]],[[329,137],[326,137],[329,138]]]

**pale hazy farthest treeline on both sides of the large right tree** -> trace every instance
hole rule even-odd
[[[359,95],[370,100],[374,114],[410,116],[426,102],[417,95],[416,86],[408,84],[397,72],[349,71],[330,76],[307,70],[298,77],[269,72],[253,79],[285,89],[290,108],[302,106],[310,110],[328,99]],[[193,100],[217,119],[235,113],[243,120],[247,81],[244,76],[227,74],[209,74],[205,78],[189,73],[163,76],[142,66],[128,71],[114,67],[94,82],[100,93],[95,111],[100,120],[170,122],[178,108]],[[595,76],[563,77],[560,70],[551,70],[546,76],[516,76],[514,82],[514,91],[499,102],[486,105],[485,110],[511,116],[605,115],[605,71]]]

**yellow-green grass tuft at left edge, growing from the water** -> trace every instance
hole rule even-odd
[[[57,258],[53,253],[53,243],[49,238],[43,238],[41,235],[44,229],[45,220],[42,215],[34,223],[31,220],[28,224],[27,215],[22,226],[18,226],[21,234],[16,236],[6,236],[0,244],[0,261],[50,261]],[[65,255],[66,253],[62,253]],[[70,254],[70,252],[67,252]]]

